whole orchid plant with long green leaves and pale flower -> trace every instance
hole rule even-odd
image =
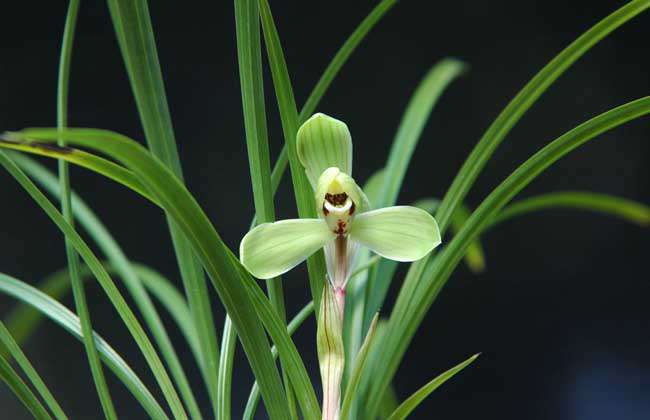
[[[255,418],[260,400],[272,420],[405,419],[477,357],[434,377],[409,397],[402,399],[393,389],[407,349],[458,264],[465,260],[474,271],[484,266],[481,236],[487,230],[547,208],[597,211],[650,225],[647,205],[593,192],[548,193],[511,203],[569,152],[650,114],[648,96],[597,115],[550,141],[475,209],[463,203],[498,146],[530,107],[600,40],[648,9],[650,0],[630,1],[550,60],[486,129],[444,196],[425,197],[413,206],[395,206],[411,156],[436,101],[464,74],[463,62],[443,59],[426,73],[404,111],[386,164],[377,168],[363,189],[352,178],[348,127],[324,114],[312,115],[348,57],[395,3],[378,2],[298,108],[268,0],[235,0],[243,124],[255,204],[253,228],[243,236],[238,258],[185,185],[146,0],[108,0],[145,142],[113,131],[68,126],[67,92],[79,7],[79,0],[70,1],[60,54],[57,126],[0,135],[0,166],[59,228],[67,255],[64,269],[36,286],[0,273],[0,294],[20,302],[0,322],[0,380],[29,415],[69,418],[69,408],[59,404],[56,392],[50,391],[22,349],[39,321],[47,317],[83,343],[98,411],[106,419],[122,415],[122,405],[114,403],[106,380],[110,370],[142,407],[142,418],[230,420],[233,372],[239,368],[234,357],[237,343],[255,377],[243,407],[246,420]],[[273,171],[262,35],[284,137]],[[57,159],[58,172],[25,154]],[[69,164],[123,185],[164,212],[182,287],[128,257],[83,201],[83,193],[72,190]],[[276,221],[274,194],[287,167],[299,218]],[[80,235],[80,230],[87,235]],[[444,246],[436,248],[443,237]],[[285,296],[278,276],[304,260],[311,300],[287,322],[285,299],[294,297]],[[410,263],[404,279],[396,275],[400,262]],[[253,276],[266,280],[266,293]],[[84,282],[88,278],[96,282]],[[124,287],[117,286],[117,279]],[[124,327],[119,332],[133,339],[155,384],[141,379],[136,372],[142,369],[133,369],[93,327],[94,308],[86,300],[85,287],[95,284],[115,309],[117,322]],[[391,284],[400,285],[395,303],[390,310],[380,311]],[[69,290],[72,309],[61,303]],[[211,290],[227,312],[223,327],[214,317]],[[182,333],[191,350],[188,360],[177,352],[178,343],[170,339],[159,308],[170,313]],[[291,338],[312,315],[317,320],[322,404],[302,349]],[[188,364],[201,373],[199,383],[190,382]],[[153,386],[158,392],[153,392]],[[200,404],[199,393],[207,396],[209,405]]]

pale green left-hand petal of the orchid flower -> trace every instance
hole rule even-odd
[[[255,277],[286,273],[335,238],[322,219],[290,219],[264,223],[244,236],[239,259]]]

